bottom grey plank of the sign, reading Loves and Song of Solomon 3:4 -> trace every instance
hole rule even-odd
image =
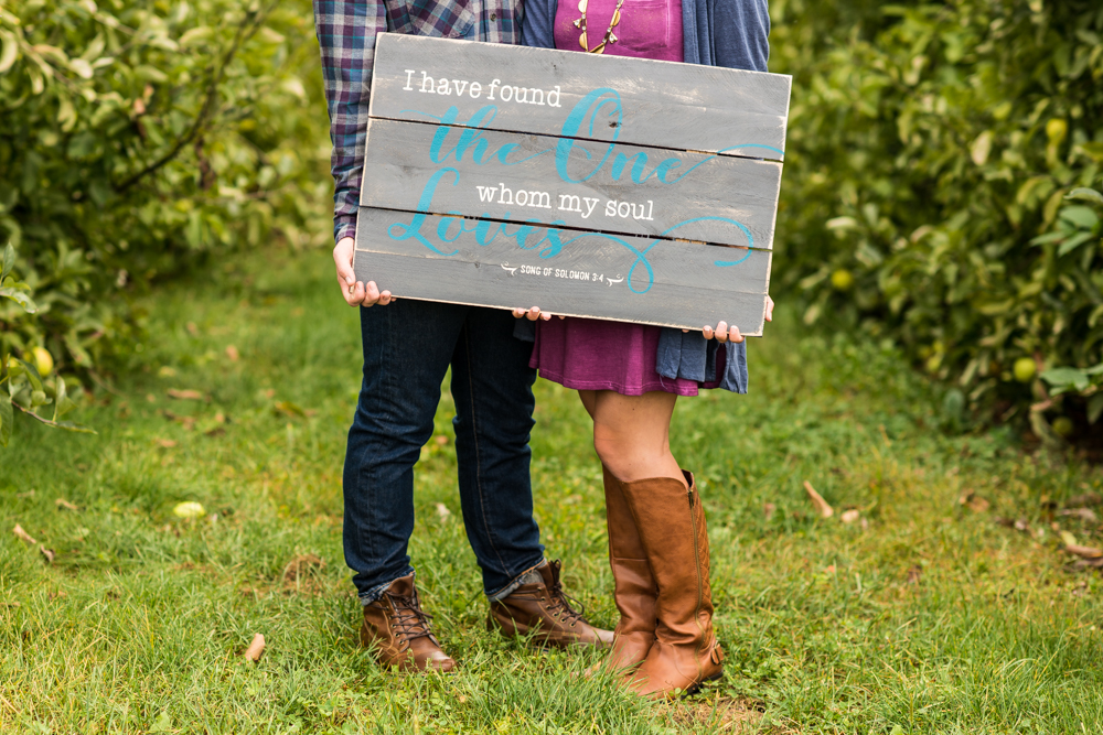
[[[536,305],[556,314],[694,329],[722,320],[757,336],[771,257],[753,248],[365,207],[355,270],[358,280],[374,280],[401,298]]]

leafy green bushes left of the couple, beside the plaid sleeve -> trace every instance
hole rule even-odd
[[[87,369],[141,350],[132,295],[207,253],[325,239],[306,0],[0,1],[0,237],[30,318],[0,348]]]

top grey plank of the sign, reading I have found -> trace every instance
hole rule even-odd
[[[371,115],[781,160],[791,86],[779,74],[385,33]]]

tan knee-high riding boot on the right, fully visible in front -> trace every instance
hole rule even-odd
[[[718,679],[724,652],[713,631],[708,534],[693,475],[621,483],[658,585],[655,644],[632,675],[632,688],[662,699],[692,694]]]

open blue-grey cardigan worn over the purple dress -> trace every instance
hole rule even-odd
[[[568,2],[572,0],[567,0]],[[559,0],[525,0],[521,43],[555,48],[553,25]],[[768,0],[682,0],[684,61],[765,72],[770,57]],[[522,320],[517,336],[532,338],[533,323]],[[726,343],[722,376],[716,375],[716,350],[721,345],[705,339],[700,331],[664,328],[655,355],[655,370],[665,378],[700,382],[719,380],[719,387],[747,392],[747,344]]]

